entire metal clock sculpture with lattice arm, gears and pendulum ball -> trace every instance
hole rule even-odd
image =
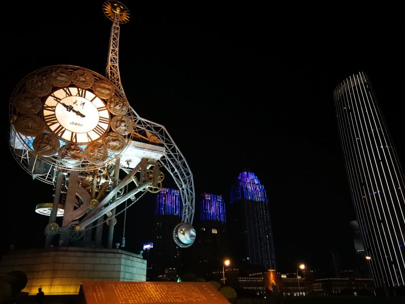
[[[74,65],[48,66],[27,75],[11,96],[10,148],[24,170],[55,188],[53,203],[35,207],[50,216],[46,246],[57,234],[62,241],[84,240],[87,245],[94,238],[101,246],[106,223],[111,248],[115,207],[159,192],[165,168],[183,202],[173,239],[179,247],[189,247],[195,240],[191,171],[166,128],[141,118],[121,85],[119,24],[129,21],[129,10],[106,1],[103,11],[113,22],[106,77]],[[135,198],[137,193],[141,196]]]

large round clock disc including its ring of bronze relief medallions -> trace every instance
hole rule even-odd
[[[27,75],[14,89],[9,109],[14,158],[25,171],[41,172],[36,178],[50,184],[53,167],[93,171],[117,160],[135,126],[118,87],[73,65],[47,66]],[[48,173],[36,164],[44,164]]]

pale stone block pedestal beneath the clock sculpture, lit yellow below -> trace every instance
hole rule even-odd
[[[82,281],[146,281],[146,260],[120,249],[50,247],[10,250],[2,256],[0,276],[20,270],[28,282],[23,292],[78,294]]]

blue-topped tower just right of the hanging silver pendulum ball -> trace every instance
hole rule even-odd
[[[222,195],[203,193],[197,204],[199,216],[194,220],[197,238],[189,260],[193,261],[192,271],[207,278],[214,270],[222,270],[227,253],[225,203]]]

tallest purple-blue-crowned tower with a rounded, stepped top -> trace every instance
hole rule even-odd
[[[276,268],[266,190],[252,172],[241,172],[231,187],[228,227],[235,238],[231,255],[241,268]]]

